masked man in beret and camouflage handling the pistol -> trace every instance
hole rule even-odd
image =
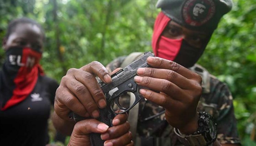
[[[221,17],[231,10],[232,2],[159,0],[156,6],[161,8],[152,38],[156,57],[148,57],[152,68],[139,68],[134,78],[138,85],[147,88],[139,90],[145,98],[138,110],[129,113],[136,117],[129,121],[135,145],[240,145],[227,85],[195,64]],[[119,57],[106,68],[116,71],[141,55]],[[80,116],[99,117],[98,109],[106,106],[106,100],[95,76],[111,82],[106,68],[92,62],[80,69],[70,69],[63,77],[54,104],[54,116],[63,120],[58,129],[70,124],[71,110]],[[129,104],[122,99],[120,102]]]

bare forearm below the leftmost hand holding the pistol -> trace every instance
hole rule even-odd
[[[56,112],[53,112],[52,122],[56,130],[65,135],[71,135],[75,122],[61,119]]]

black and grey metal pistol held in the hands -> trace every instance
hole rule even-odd
[[[113,74],[111,76],[111,83],[106,84],[102,81],[99,82],[100,88],[105,94],[107,101],[107,106],[105,108],[99,109],[100,117],[98,120],[100,122],[103,122],[109,127],[112,127],[112,120],[117,115],[117,113],[114,112],[113,104],[117,104],[120,109],[124,110],[123,112],[118,113],[123,114],[132,109],[141,100],[139,89],[142,87],[134,82],[134,77],[137,75],[137,69],[139,67],[150,67],[147,64],[147,58],[149,56],[154,56],[154,54],[151,52],[145,52],[143,56],[139,57],[131,64]],[[127,92],[131,92],[135,95],[135,101],[130,107],[123,107],[121,104],[119,104],[119,97]],[[69,118],[73,119],[75,122],[86,119],[75,114],[74,112],[70,113]],[[99,133],[91,133],[90,140],[93,146],[103,146],[105,142],[101,140]]]

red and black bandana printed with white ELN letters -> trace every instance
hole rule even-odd
[[[12,91],[12,94],[2,97],[4,100],[0,103],[1,110],[6,110],[26,99],[33,91],[38,75],[44,74],[39,65],[40,52],[30,48],[12,47],[6,51],[6,56],[1,74],[3,80],[0,80],[0,84],[6,90]]]

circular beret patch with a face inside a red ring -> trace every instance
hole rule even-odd
[[[191,26],[201,26],[215,14],[212,0],[186,0],[182,6],[184,22]]]

